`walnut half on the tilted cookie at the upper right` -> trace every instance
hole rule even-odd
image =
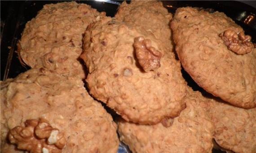
[[[224,41],[228,49],[237,54],[247,54],[253,49],[251,36],[245,35],[244,32],[240,32],[239,34],[237,34],[233,30],[226,30],[222,32],[219,36]]]

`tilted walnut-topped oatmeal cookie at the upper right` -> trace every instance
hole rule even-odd
[[[242,108],[256,106],[256,49],[224,13],[179,8],[171,23],[185,71],[207,92]]]

